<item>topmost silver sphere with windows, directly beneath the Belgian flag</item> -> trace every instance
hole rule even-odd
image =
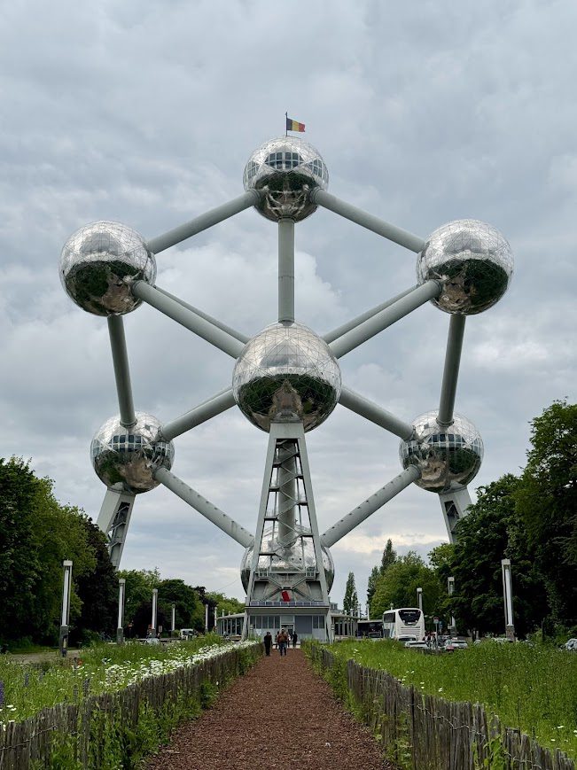
[[[320,153],[294,136],[261,144],[248,159],[243,175],[245,190],[262,191],[255,206],[267,219],[300,222],[316,211],[310,199],[316,188],[326,190],[329,172]]]

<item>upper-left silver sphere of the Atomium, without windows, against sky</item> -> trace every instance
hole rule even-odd
[[[60,255],[60,281],[76,305],[95,315],[123,315],[141,303],[130,284],[154,284],[156,261],[144,238],[121,222],[92,222]]]

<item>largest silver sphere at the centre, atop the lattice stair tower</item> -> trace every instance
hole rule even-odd
[[[273,421],[312,431],[336,407],[340,387],[331,348],[301,323],[271,323],[246,343],[232,374],[238,408],[267,432]]]

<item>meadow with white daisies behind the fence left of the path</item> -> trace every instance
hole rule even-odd
[[[42,664],[19,664],[11,656],[0,657],[0,727],[10,720],[27,719],[41,709],[59,703],[77,703],[82,697],[127,687],[146,676],[168,673],[186,665],[199,650],[220,646],[215,634],[174,645],[129,643],[97,644],[82,649],[74,666],[71,657]]]

